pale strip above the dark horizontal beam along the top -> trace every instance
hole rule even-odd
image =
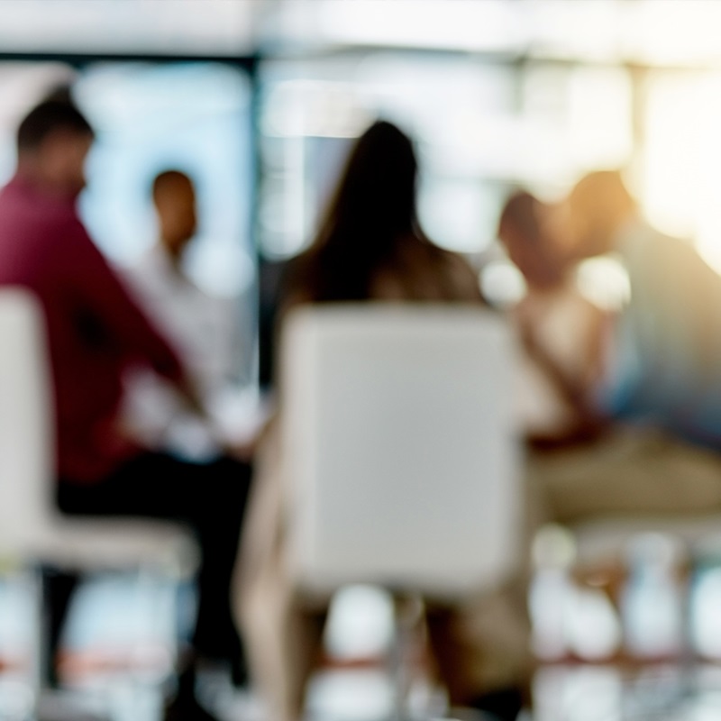
[[[235,57],[349,47],[719,66],[716,0],[3,0],[12,53]]]

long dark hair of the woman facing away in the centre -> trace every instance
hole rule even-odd
[[[416,213],[413,143],[396,125],[373,123],[351,150],[310,248],[292,264],[289,291],[309,300],[363,300],[398,242],[426,242]]]

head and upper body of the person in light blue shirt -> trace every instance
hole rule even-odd
[[[689,242],[648,224],[614,170],[589,173],[567,203],[567,255],[615,253],[631,297],[616,315],[607,412],[721,449],[721,278]]]

